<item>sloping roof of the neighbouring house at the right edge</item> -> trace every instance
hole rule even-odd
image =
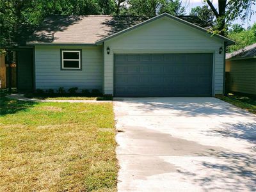
[[[256,44],[249,45],[247,47],[239,49],[238,51],[227,53],[226,59],[248,58],[248,57],[252,57],[252,56],[256,56]]]

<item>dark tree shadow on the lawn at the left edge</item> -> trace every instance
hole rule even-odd
[[[38,104],[37,102],[29,102],[23,100],[14,100],[8,99],[6,97],[0,97],[0,115],[8,115],[17,113],[19,111],[28,111],[29,108],[32,108]]]

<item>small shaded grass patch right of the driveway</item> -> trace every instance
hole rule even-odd
[[[256,114],[256,99],[255,97],[248,97],[243,95],[233,95],[229,94],[228,96],[218,96],[218,99],[224,100],[234,106],[237,106],[241,109],[245,109],[250,113]]]

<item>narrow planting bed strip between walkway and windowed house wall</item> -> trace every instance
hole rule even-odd
[[[70,95],[69,93],[63,94],[38,94],[38,93],[26,93],[25,97],[31,99],[42,99],[42,100],[112,100],[113,97],[107,95],[100,96],[91,96],[91,95],[83,95],[81,93],[76,93],[74,95]]]

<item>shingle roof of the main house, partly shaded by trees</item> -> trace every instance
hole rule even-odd
[[[80,43],[94,44],[106,36],[130,28],[152,17],[146,16],[109,16],[109,15],[86,15],[86,16],[51,16],[36,29],[29,38],[29,43]],[[207,27],[196,16],[180,16],[203,28]],[[54,41],[52,41],[54,33]]]

